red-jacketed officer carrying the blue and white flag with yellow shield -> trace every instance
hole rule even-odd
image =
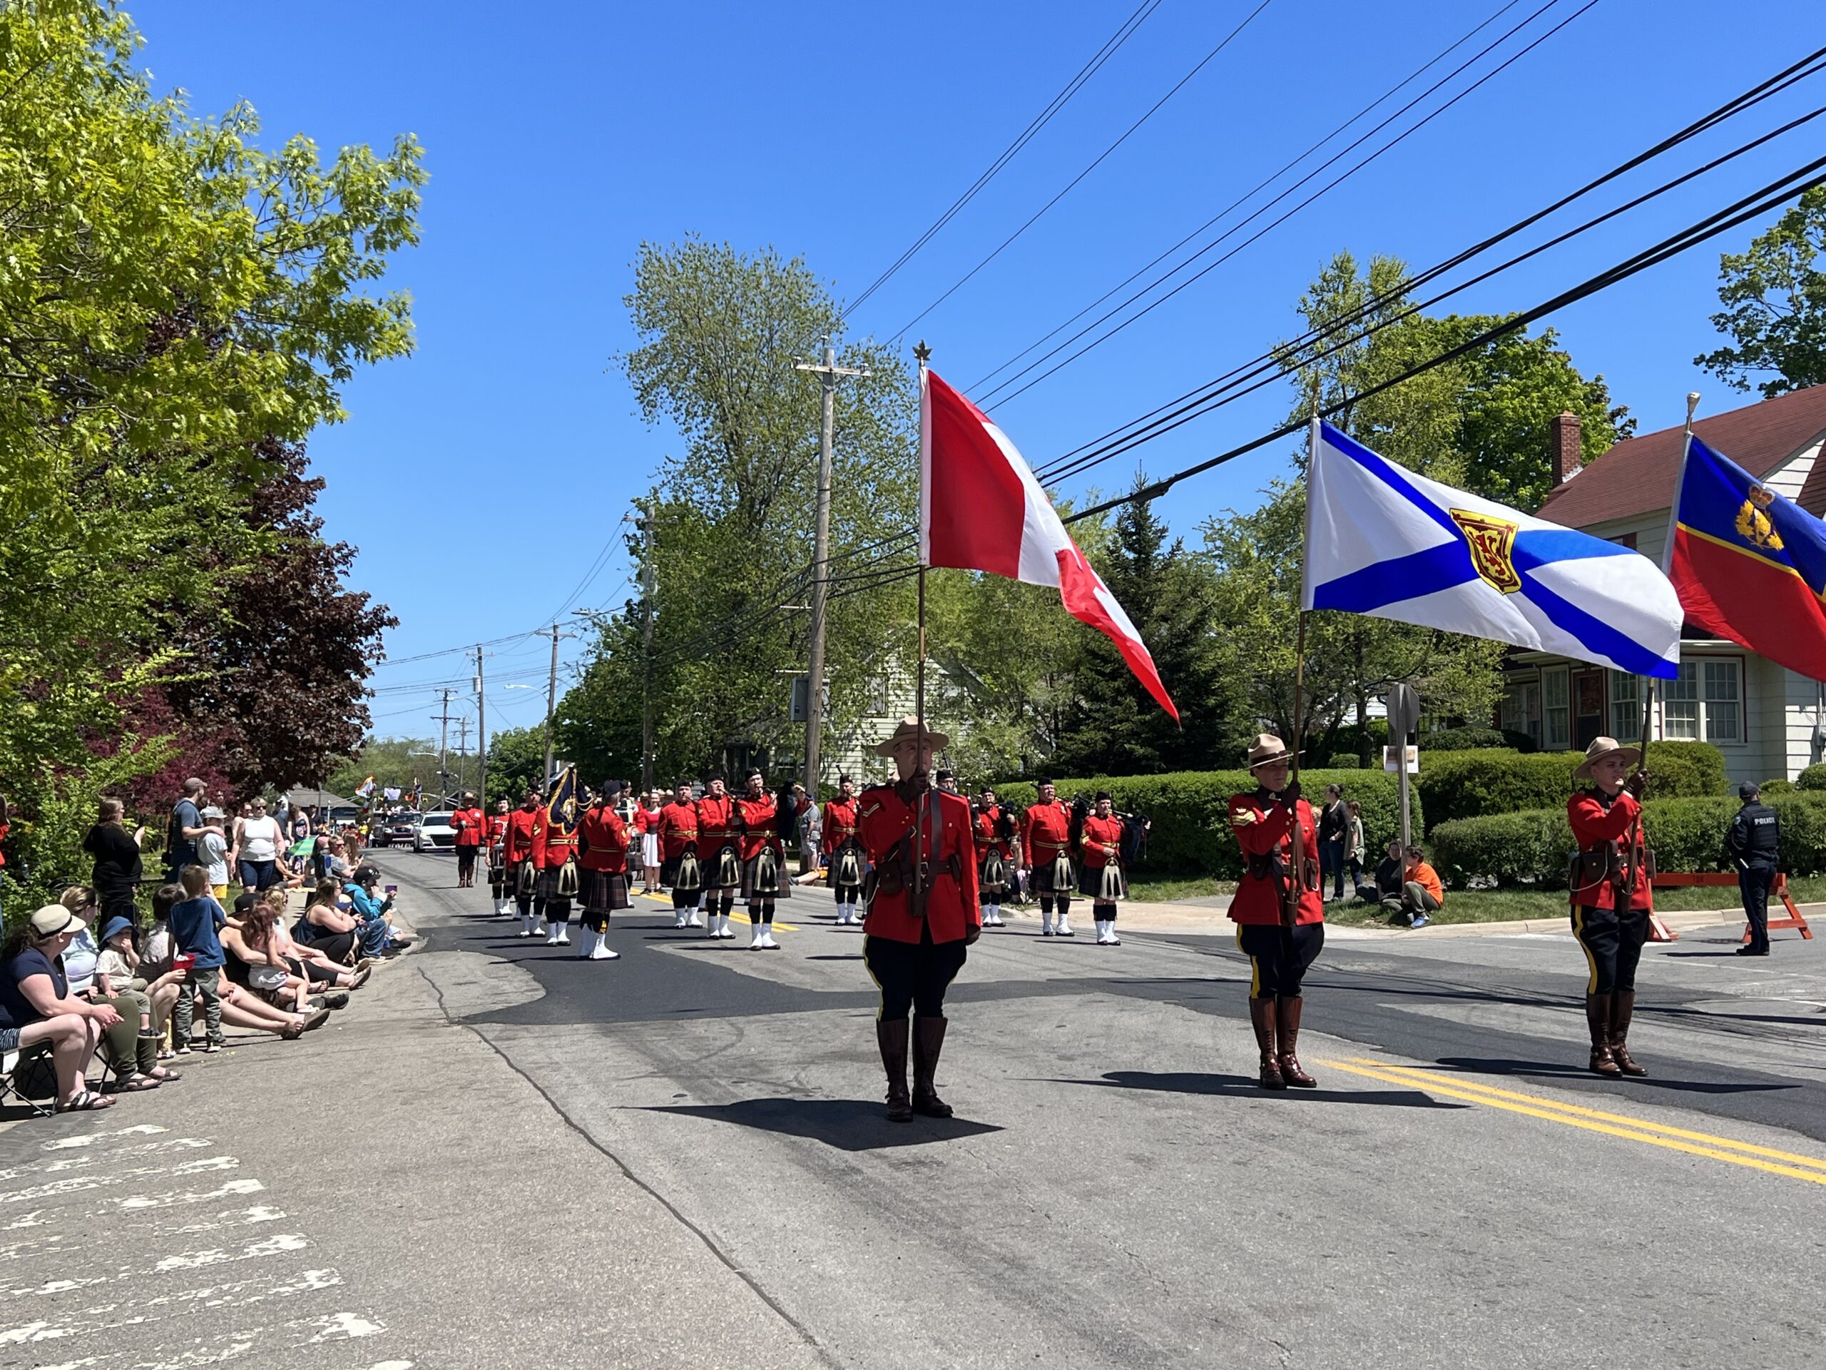
[[[1231,831],[1244,849],[1244,879],[1231,901],[1236,946],[1249,957],[1249,1023],[1262,1052],[1262,1089],[1313,1089],[1300,1069],[1300,979],[1326,944],[1326,901],[1318,888],[1318,831],[1313,807],[1287,782],[1287,745],[1262,732],[1249,747],[1254,793],[1231,795]],[[1300,860],[1293,860],[1293,822]],[[1298,884],[1289,884],[1298,880]],[[1298,891],[1298,899],[1289,895]],[[1291,908],[1289,908],[1291,906]],[[1289,917],[1291,913],[1291,917]]]

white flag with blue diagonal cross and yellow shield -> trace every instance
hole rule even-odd
[[[1304,608],[1673,680],[1680,597],[1638,552],[1397,466],[1315,420]]]

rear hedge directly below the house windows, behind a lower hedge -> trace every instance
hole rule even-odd
[[[1576,751],[1435,751],[1421,749],[1417,784],[1433,827],[1492,813],[1550,809],[1572,793]],[[1651,742],[1649,798],[1724,795],[1724,754],[1709,742]]]

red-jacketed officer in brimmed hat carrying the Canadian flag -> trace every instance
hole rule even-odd
[[[875,862],[862,961],[882,992],[875,1041],[887,1070],[887,1118],[897,1123],[909,1122],[915,1112],[951,1116],[951,1105],[937,1091],[944,992],[964,968],[964,948],[982,935],[970,802],[931,789],[928,778],[933,751],[948,742],[913,718],[902,720],[875,749],[895,758],[900,780],[869,785],[858,800],[862,846]],[[908,1014],[913,1014],[911,1023]]]

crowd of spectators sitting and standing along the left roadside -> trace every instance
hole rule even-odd
[[[82,838],[91,884],[69,886],[0,944],[0,1050],[18,1052],[24,1092],[47,1058],[58,1112],[177,1081],[175,1061],[219,1052],[225,1027],[298,1039],[411,944],[394,928],[393,890],[374,866],[351,864],[341,835],[314,831],[301,811],[270,815],[265,798],[228,822],[208,800],[205,782],[188,780],[173,804],[150,917],[139,904],[146,829],[128,831],[122,802],[102,798]]]

